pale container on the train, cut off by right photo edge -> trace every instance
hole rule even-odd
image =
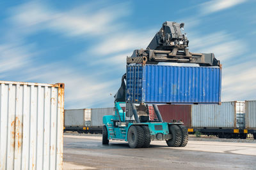
[[[256,129],[256,101],[245,101],[246,128]]]

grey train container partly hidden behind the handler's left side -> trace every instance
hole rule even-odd
[[[115,115],[114,108],[93,108],[91,115],[91,126],[103,126],[102,117],[105,115]]]

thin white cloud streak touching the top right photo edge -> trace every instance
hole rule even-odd
[[[207,15],[216,11],[232,8],[233,6],[244,3],[245,1],[246,0],[211,0],[200,4],[200,8],[202,9],[202,15]]]

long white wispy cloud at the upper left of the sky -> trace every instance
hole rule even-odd
[[[129,13],[122,8],[123,5],[105,8],[82,6],[78,10],[60,11],[38,2],[26,3],[12,10],[12,20],[26,33],[49,29],[66,36],[97,36],[113,32],[115,27],[121,26],[115,21]]]

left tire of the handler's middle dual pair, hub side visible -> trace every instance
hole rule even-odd
[[[130,148],[141,148],[145,142],[145,134],[140,125],[132,125],[128,131],[128,144]]]

